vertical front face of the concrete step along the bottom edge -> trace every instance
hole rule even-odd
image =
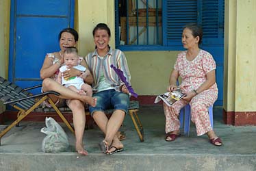
[[[8,153],[0,156],[0,170],[255,170],[255,155]]]

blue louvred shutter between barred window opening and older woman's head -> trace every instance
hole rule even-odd
[[[179,46],[182,49],[181,35],[188,23],[196,23],[196,0],[166,0],[163,9],[163,45]]]

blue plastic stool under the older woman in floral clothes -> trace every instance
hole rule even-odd
[[[208,108],[209,112],[209,120],[211,122],[212,128],[214,128],[214,112],[213,112],[213,106],[211,105]],[[190,120],[191,120],[191,114],[190,114],[190,105],[185,105],[179,113],[179,122],[181,122],[181,127],[183,128],[183,120],[184,120],[184,134],[190,135]]]

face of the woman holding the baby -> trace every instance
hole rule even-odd
[[[65,51],[67,47],[75,47],[77,42],[75,42],[75,38],[73,34],[68,32],[63,32],[60,36],[60,49]]]

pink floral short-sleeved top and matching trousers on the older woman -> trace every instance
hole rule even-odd
[[[207,51],[200,50],[194,60],[189,61],[186,58],[187,51],[179,53],[175,70],[179,72],[182,79],[181,90],[192,92],[197,90],[206,80],[206,74],[216,69],[214,58]],[[218,98],[217,84],[194,96],[190,103],[191,120],[196,125],[197,135],[203,135],[208,131],[212,131],[209,120],[208,107],[213,105]],[[187,105],[187,101],[177,101],[171,107],[164,103],[164,114],[166,116],[166,133],[179,130],[179,111]]]

